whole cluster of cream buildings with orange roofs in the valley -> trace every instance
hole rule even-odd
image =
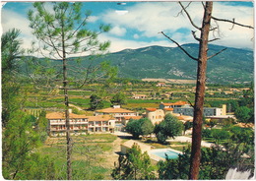
[[[193,121],[193,107],[186,101],[177,101],[174,103],[160,103],[160,108],[146,108],[145,113],[139,115],[128,109],[121,108],[120,105],[99,109],[95,111],[94,116],[78,115],[70,113],[70,129],[74,134],[86,134],[94,132],[124,131],[125,125],[130,119],[141,119],[146,117],[152,123],[159,124],[166,114],[172,114],[181,122]],[[204,109],[206,119],[226,119],[234,118],[233,115],[226,115],[226,105],[222,108],[209,107]],[[66,120],[64,113],[52,112],[46,115],[48,119],[48,134],[50,136],[64,136],[66,132]]]

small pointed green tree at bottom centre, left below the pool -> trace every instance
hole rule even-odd
[[[142,152],[136,144],[125,155],[119,155],[118,164],[111,176],[116,180],[153,180],[155,168],[147,151]]]

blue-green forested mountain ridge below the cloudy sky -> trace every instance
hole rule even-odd
[[[194,57],[198,56],[198,44],[182,45]],[[209,45],[208,56],[226,47]],[[89,56],[80,57],[82,67],[87,67]],[[149,46],[125,49],[97,58],[118,67],[118,77],[131,79],[196,80],[197,62],[190,59],[179,47]],[[70,64],[75,61],[70,61]],[[58,63],[54,61],[53,64]],[[79,75],[78,75],[79,76]],[[222,53],[208,60],[207,82],[211,84],[243,84],[254,78],[252,50],[227,47]]]

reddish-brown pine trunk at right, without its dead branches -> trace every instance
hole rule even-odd
[[[207,51],[208,36],[211,27],[213,2],[206,2],[204,19],[201,30],[201,40],[199,46],[199,60],[197,72],[197,87],[194,106],[193,132],[192,132],[192,150],[190,159],[189,179],[196,180],[199,176],[199,166],[201,158],[201,140],[203,124],[203,106],[206,87],[207,71]]]

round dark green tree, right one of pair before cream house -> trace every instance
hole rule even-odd
[[[158,142],[163,144],[167,137],[174,139],[182,133],[182,130],[184,130],[182,122],[171,114],[167,114],[164,120],[156,125],[154,133],[156,133]]]

